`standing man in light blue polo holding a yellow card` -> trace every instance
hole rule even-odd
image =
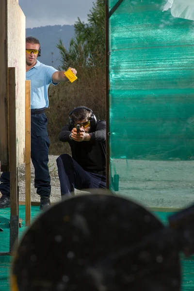
[[[68,81],[64,71],[44,65],[37,60],[40,56],[40,42],[35,37],[26,38],[26,80],[31,80],[31,159],[34,166],[34,187],[40,195],[40,210],[50,205],[49,137],[47,117],[44,110],[49,106],[49,84],[57,85]],[[70,68],[76,75],[77,71]],[[0,177],[0,208],[10,206],[10,175]]]

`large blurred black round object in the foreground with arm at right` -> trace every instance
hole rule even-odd
[[[41,214],[16,250],[12,291],[179,291],[179,252],[194,252],[194,207],[169,217],[110,191]]]

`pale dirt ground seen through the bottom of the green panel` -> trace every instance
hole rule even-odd
[[[184,208],[194,203],[194,161],[113,159],[119,193],[149,207]]]

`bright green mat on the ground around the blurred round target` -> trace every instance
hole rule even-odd
[[[39,207],[32,206],[32,221],[41,212]],[[19,207],[20,218],[22,219],[22,227],[20,228],[20,237],[25,232],[25,206]],[[154,212],[154,214],[162,221],[163,224],[167,223],[168,215],[172,212]],[[4,230],[0,232],[0,252],[9,251],[9,219],[10,209],[0,210],[0,227]],[[180,255],[182,265],[182,291],[194,290],[194,256],[184,258]],[[0,291],[10,291],[9,287],[9,274],[11,270],[12,257],[0,257]]]

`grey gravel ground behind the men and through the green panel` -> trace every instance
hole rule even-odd
[[[49,156],[51,202],[61,200],[56,159]],[[125,197],[149,207],[182,208],[194,203],[194,161],[116,160],[112,176],[119,174],[119,192]],[[40,201],[34,188],[34,169],[31,163],[31,200]],[[25,201],[25,167],[18,169],[19,201]],[[82,194],[75,190],[75,194]]]

